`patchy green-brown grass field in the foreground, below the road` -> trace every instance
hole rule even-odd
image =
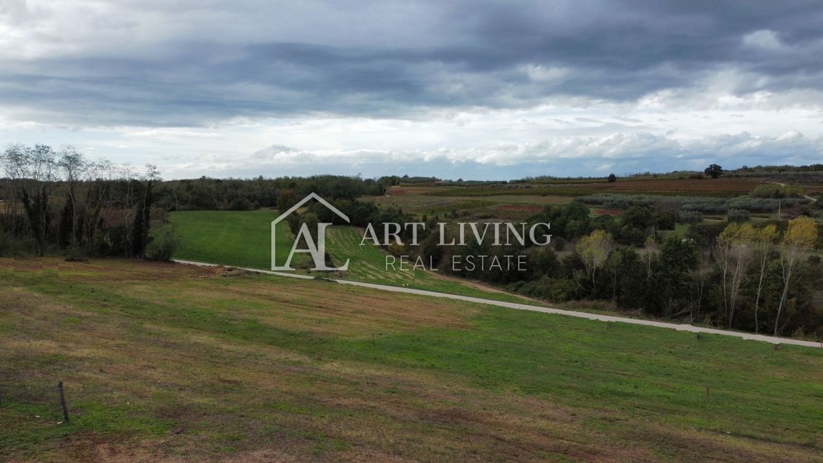
[[[221,272],[0,259],[0,459],[823,459],[820,349]]]

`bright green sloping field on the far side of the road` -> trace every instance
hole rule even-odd
[[[174,223],[180,237],[180,246],[175,251],[174,258],[250,269],[271,269],[270,224],[277,215],[277,212],[270,210],[171,213],[170,221]],[[285,262],[286,255],[291,250],[294,235],[284,222],[278,226],[281,227],[277,230],[277,258],[278,264],[281,264]],[[413,263],[400,270],[398,260],[394,269],[387,269],[386,253],[376,246],[360,246],[361,239],[362,231],[356,227],[329,227],[328,253],[332,255],[336,266],[349,259],[349,269],[345,272],[315,274],[328,278],[390,284],[463,296],[491,297],[501,301],[525,300],[523,297],[481,287],[475,283],[440,276],[419,268],[414,269]],[[306,259],[305,255],[295,255],[292,263],[295,267],[300,262],[298,257]]]

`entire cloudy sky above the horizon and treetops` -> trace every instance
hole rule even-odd
[[[0,0],[0,143],[165,178],[823,161],[823,2]]]

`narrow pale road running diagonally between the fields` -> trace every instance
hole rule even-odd
[[[194,262],[192,260],[179,260],[173,259],[174,262],[178,264],[189,264],[189,265],[199,265],[202,267],[229,267],[229,265],[221,265],[221,264],[207,264],[204,262]],[[233,266],[232,266],[233,267]],[[248,270],[249,272],[257,272],[259,274],[271,274],[277,275],[281,277],[288,277],[288,278],[300,278],[300,279],[307,279],[311,280],[314,277],[309,275],[300,275],[300,274],[290,274],[288,272],[272,272],[271,270],[260,270],[260,269],[245,269],[243,267],[234,267],[235,269],[242,269]],[[586,318],[588,320],[600,320],[600,321],[610,321],[615,323],[630,323],[631,325],[645,325],[645,326],[657,326],[658,328],[669,328],[671,330],[678,330],[678,331],[689,331],[691,333],[709,333],[709,334],[721,334],[723,336],[732,336],[735,338],[741,339],[752,339],[756,341],[764,341],[766,343],[771,344],[795,344],[798,346],[807,346],[807,347],[815,347],[815,348],[823,348],[823,343],[817,343],[814,341],[802,341],[800,339],[790,339],[790,338],[778,338],[776,336],[765,336],[763,334],[754,334],[754,333],[742,333],[739,331],[728,331],[728,330],[717,330],[714,328],[704,328],[702,326],[692,326],[680,323],[667,323],[664,321],[654,321],[654,320],[642,320],[637,318],[628,318],[623,316],[607,316],[607,315],[600,315],[600,314],[593,314],[588,312],[579,312],[579,311],[565,311],[561,309],[552,309],[551,307],[543,307],[543,306],[530,306],[528,304],[518,304],[517,302],[504,302],[504,301],[495,301],[494,299],[483,299],[481,297],[469,297],[469,296],[458,296],[457,294],[448,294],[446,292],[434,292],[434,291],[425,291],[422,289],[412,289],[412,288],[401,288],[398,286],[388,286],[385,284],[374,284],[374,283],[362,283],[350,280],[332,280],[337,283],[341,284],[351,284],[352,286],[360,286],[363,288],[372,288],[372,289],[379,289],[381,291],[392,291],[392,292],[406,292],[407,294],[418,294],[421,296],[430,296],[430,297],[443,297],[445,299],[456,299],[458,301],[467,301],[467,302],[475,302],[477,304],[486,304],[488,306],[499,306],[499,307],[506,307],[509,309],[518,309],[522,311],[536,311],[536,312],[543,312],[547,314],[557,314],[557,315],[565,315],[565,316],[576,316],[578,318]]]

